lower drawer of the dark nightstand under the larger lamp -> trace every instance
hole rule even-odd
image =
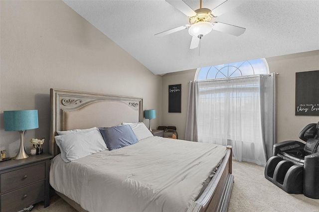
[[[1,195],[1,212],[7,212],[19,207],[26,207],[28,203],[34,204],[35,200],[45,195],[45,181],[26,186],[22,189]]]

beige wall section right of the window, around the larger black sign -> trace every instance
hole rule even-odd
[[[300,140],[299,132],[319,116],[295,115],[296,72],[319,70],[319,50],[266,58],[277,76],[277,142]]]

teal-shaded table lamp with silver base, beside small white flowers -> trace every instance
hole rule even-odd
[[[19,131],[20,132],[20,149],[17,155],[13,158],[20,160],[28,158],[24,150],[24,133],[27,129],[35,129],[38,124],[38,110],[11,110],[3,111],[4,116],[4,131]]]

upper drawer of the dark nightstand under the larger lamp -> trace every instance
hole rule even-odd
[[[15,170],[1,174],[1,193],[45,178],[45,164]],[[1,199],[2,200],[2,199]],[[1,204],[2,207],[2,204]]]

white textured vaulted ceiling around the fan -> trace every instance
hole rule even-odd
[[[192,9],[199,0],[184,0]],[[154,34],[189,23],[165,0],[64,0],[154,74],[319,49],[319,0],[244,0],[215,21],[246,28],[236,37],[212,31],[189,49],[188,30]],[[220,0],[203,0],[213,8]]]

